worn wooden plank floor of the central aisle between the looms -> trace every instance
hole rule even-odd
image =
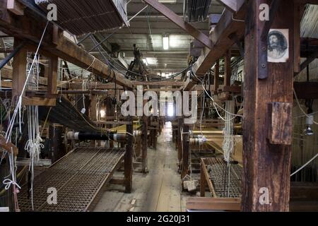
[[[124,194],[118,189],[120,186],[110,184],[94,211],[185,211],[186,194],[182,194],[177,172],[171,124],[167,124],[159,136],[157,149],[148,148],[148,171],[148,174],[134,172],[131,194]]]

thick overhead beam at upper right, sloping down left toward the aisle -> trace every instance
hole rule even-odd
[[[243,4],[235,15],[225,9],[216,28],[210,35],[214,43],[213,48],[211,50],[205,49],[196,64],[194,64],[194,72],[197,75],[203,76],[208,69],[211,69],[216,60],[223,57],[225,52],[235,44],[235,39],[231,39],[230,36],[235,34],[239,40],[243,37],[245,32],[245,13],[246,4]]]

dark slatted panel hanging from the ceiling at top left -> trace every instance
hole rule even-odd
[[[57,6],[57,23],[73,35],[100,32],[127,25],[126,0],[35,0],[47,11]]]

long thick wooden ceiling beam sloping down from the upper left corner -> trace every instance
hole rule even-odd
[[[25,11],[24,16],[13,16],[6,8],[6,1],[0,1],[0,30],[8,35],[18,37],[22,40],[39,43],[42,32],[45,30],[46,22],[36,15],[30,15]],[[92,54],[64,37],[63,32],[54,33],[54,26],[49,24],[45,37],[42,41],[42,49],[65,59],[83,69],[93,71],[104,78],[112,79],[116,76],[119,85],[132,88],[132,83],[124,78],[121,73],[110,71],[109,67]]]

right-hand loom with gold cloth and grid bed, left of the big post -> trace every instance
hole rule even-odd
[[[223,155],[223,134],[220,129],[208,129],[204,147],[213,148]],[[201,197],[188,197],[189,211],[240,211],[242,196],[242,136],[235,136],[235,151],[232,160],[237,164],[230,165],[230,183],[228,183],[227,162],[222,157],[201,158]],[[229,185],[229,186],[228,186]],[[205,197],[206,186],[211,197]]]

